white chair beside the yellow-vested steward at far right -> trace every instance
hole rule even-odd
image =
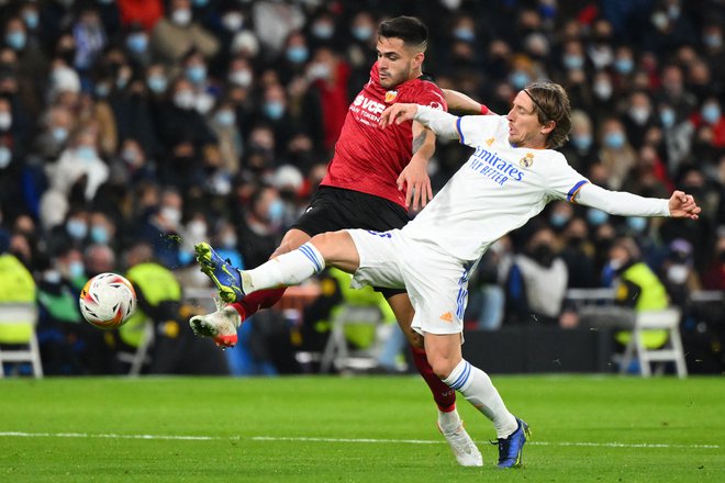
[[[660,329],[669,333],[669,339],[665,347],[648,349],[643,341],[643,332],[648,329]],[[662,311],[644,311],[637,313],[632,327],[633,337],[627,344],[622,359],[620,372],[629,367],[633,358],[639,360],[639,371],[645,378],[651,375],[651,362],[674,362],[677,375],[687,378],[688,368],[684,363],[684,350],[680,337],[680,310],[677,307]],[[659,364],[659,371],[663,366]]]

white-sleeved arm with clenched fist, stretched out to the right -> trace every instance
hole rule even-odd
[[[571,201],[621,216],[672,216],[698,220],[700,206],[692,195],[674,191],[669,200],[644,198],[625,191],[610,191],[583,182],[571,195]]]

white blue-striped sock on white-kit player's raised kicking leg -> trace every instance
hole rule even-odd
[[[306,243],[259,267],[242,272],[244,293],[275,287],[297,285],[325,268],[325,260],[314,245]]]

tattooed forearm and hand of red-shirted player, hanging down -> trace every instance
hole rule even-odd
[[[428,177],[428,160],[435,153],[435,134],[419,122],[413,122],[413,157],[398,177],[398,189],[405,190],[405,205],[417,210],[419,202],[425,206],[433,198]]]

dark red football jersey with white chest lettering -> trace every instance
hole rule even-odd
[[[405,193],[398,190],[397,181],[413,156],[412,123],[392,124],[384,130],[378,126],[382,111],[395,102],[448,109],[443,92],[430,80],[408,80],[387,90],[380,86],[378,64],[373,64],[370,80],[348,108],[335,156],[321,186],[361,191],[406,207]]]

